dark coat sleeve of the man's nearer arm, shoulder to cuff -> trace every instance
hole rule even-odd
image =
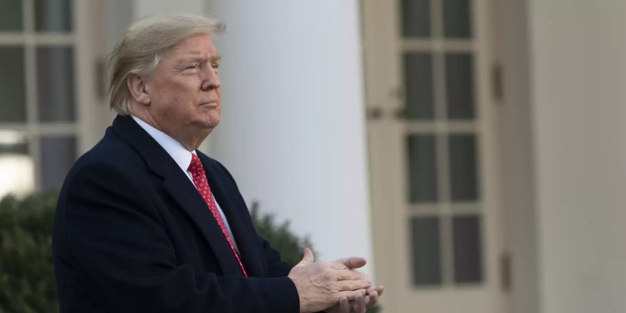
[[[152,200],[124,170],[99,162],[70,175],[58,204],[57,257],[111,312],[300,312],[284,275],[218,277],[177,264]]]

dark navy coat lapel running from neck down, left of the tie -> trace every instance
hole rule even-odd
[[[163,187],[200,229],[214,251],[224,275],[241,275],[239,265],[207,204],[163,147],[130,116],[118,115],[113,121],[113,129],[135,148],[152,171],[163,177]]]

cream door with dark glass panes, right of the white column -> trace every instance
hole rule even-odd
[[[490,3],[363,5],[385,312],[504,312]]]

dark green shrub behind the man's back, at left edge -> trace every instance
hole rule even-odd
[[[57,197],[0,200],[0,312],[58,312],[51,255]]]

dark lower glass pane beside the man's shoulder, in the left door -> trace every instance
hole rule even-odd
[[[74,136],[42,136],[41,141],[42,188],[60,189],[65,175],[77,159]]]

